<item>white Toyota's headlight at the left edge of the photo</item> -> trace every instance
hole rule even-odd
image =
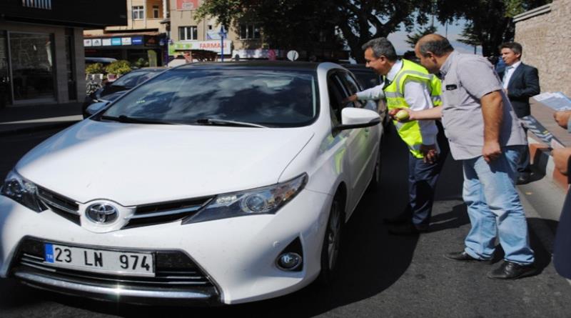
[[[24,207],[36,212],[47,208],[38,199],[38,187],[33,182],[24,179],[15,170],[9,172],[0,189],[0,194],[22,204]]]

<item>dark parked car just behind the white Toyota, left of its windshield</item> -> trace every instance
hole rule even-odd
[[[125,92],[129,89],[132,89],[138,84],[143,83],[143,81],[153,78],[153,76],[156,76],[158,73],[164,70],[165,69],[161,67],[145,67],[143,69],[135,69],[87,95],[85,97],[84,104],[81,106],[81,111],[84,114],[84,118],[87,116],[86,109],[89,107],[89,105],[101,101],[114,101],[119,96],[125,94]]]

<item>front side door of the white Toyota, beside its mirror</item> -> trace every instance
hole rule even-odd
[[[347,85],[343,81],[343,74],[340,71],[334,71],[328,77],[330,107],[332,114],[333,126],[341,124],[341,110],[344,107],[354,106],[354,103],[343,104],[343,99],[349,96]],[[353,212],[366,187],[366,177],[363,176],[363,170],[367,159],[367,136],[364,129],[348,129],[340,131],[343,134],[345,144],[345,159],[348,164],[348,172],[346,180],[348,181],[348,209],[347,217]]]

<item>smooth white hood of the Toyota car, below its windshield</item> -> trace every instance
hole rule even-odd
[[[77,202],[109,199],[131,206],[276,184],[312,136],[311,126],[262,129],[86,119],[36,146],[16,170]]]

